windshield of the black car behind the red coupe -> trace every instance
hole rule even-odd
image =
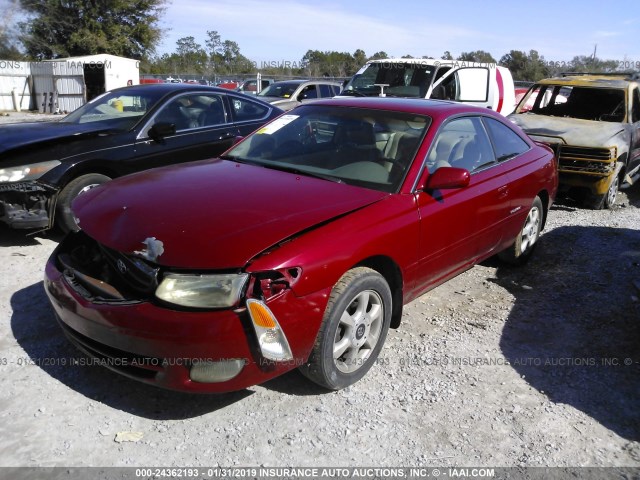
[[[161,98],[155,89],[107,92],[67,115],[64,123],[100,123],[105,128],[129,130]]]

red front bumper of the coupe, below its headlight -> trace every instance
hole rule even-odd
[[[222,393],[263,383],[308,358],[330,288],[301,298],[288,290],[268,302],[294,357],[273,362],[262,357],[245,308],[174,310],[149,299],[111,301],[88,291],[84,286],[92,287],[87,278],[78,271],[71,273],[59,261],[69,252],[72,237],[51,255],[44,286],[65,335],[93,359],[92,365],[157,387]],[[230,359],[241,361],[243,367],[229,380],[204,383],[191,375],[196,362]]]

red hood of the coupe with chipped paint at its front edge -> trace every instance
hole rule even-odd
[[[73,203],[80,227],[124,253],[162,242],[160,265],[234,269],[304,230],[388,194],[227,160],[148,170]]]

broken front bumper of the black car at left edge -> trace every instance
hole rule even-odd
[[[11,228],[48,228],[56,190],[37,181],[0,183],[0,222]]]

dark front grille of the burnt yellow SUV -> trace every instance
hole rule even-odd
[[[554,147],[560,172],[606,177],[615,169],[617,158],[615,147],[592,148],[574,145],[554,145]]]

